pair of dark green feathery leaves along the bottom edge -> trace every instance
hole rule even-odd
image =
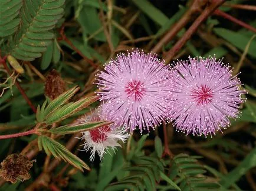
[[[124,167],[129,175],[118,182],[111,183],[105,190],[155,190],[160,180],[169,183],[173,190],[219,190],[216,182],[207,180],[206,169],[199,165],[196,157],[186,154],[175,156],[170,161],[170,175],[165,175],[165,163],[162,159],[140,156],[131,160],[132,166]],[[160,188],[160,187],[159,187]]]

